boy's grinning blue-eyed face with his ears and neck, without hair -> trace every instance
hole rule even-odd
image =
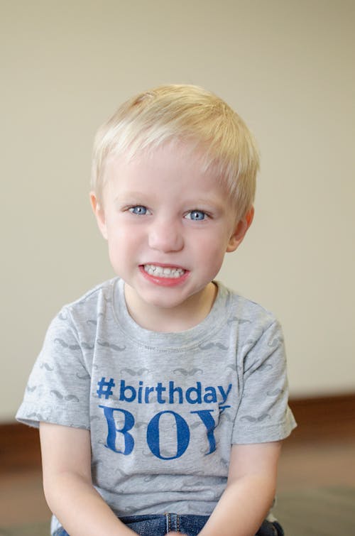
[[[105,180],[102,204],[92,194],[92,207],[133,318],[143,310],[156,316],[210,307],[210,283],[224,253],[244,238],[252,212],[236,221],[224,187],[177,146],[129,163],[112,157]]]

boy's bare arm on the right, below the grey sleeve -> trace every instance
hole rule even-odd
[[[231,448],[226,490],[200,536],[253,536],[275,496],[280,442]]]

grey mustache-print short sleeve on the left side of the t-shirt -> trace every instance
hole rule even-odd
[[[33,427],[43,421],[89,429],[89,391],[82,343],[64,308],[48,328],[16,419]]]

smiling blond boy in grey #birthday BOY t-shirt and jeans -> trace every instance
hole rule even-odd
[[[283,534],[266,520],[288,409],[271,313],[214,278],[253,220],[258,154],[227,104],[170,85],[94,144],[117,278],[53,320],[17,418],[40,427],[52,534]]]

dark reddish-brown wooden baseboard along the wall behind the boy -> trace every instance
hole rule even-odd
[[[315,398],[291,398],[297,420],[285,446],[300,442],[355,440],[355,393]],[[40,468],[38,430],[13,422],[0,424],[0,471]]]

